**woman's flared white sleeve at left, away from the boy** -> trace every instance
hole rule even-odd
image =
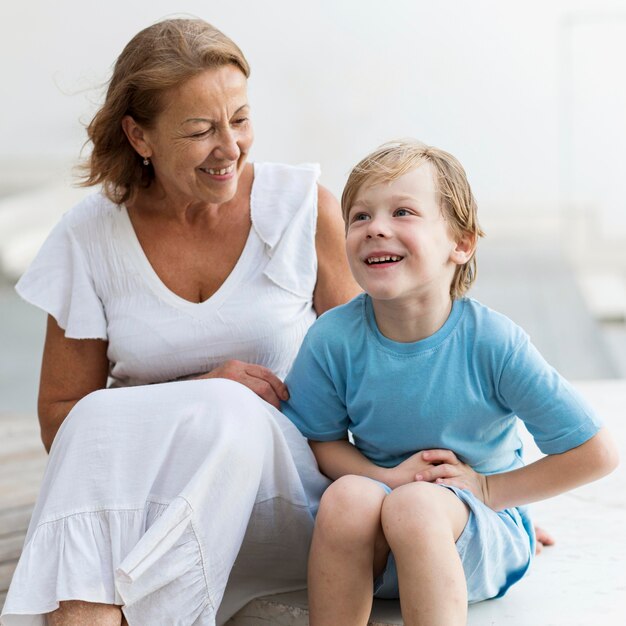
[[[67,217],[52,230],[15,286],[27,302],[52,315],[70,339],[107,339],[102,301]]]

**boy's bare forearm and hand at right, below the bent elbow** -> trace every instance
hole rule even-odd
[[[478,474],[468,465],[447,463],[422,472],[422,479],[469,489],[494,511],[551,498],[612,472],[619,456],[611,436],[602,428],[591,439],[561,454],[502,474]]]

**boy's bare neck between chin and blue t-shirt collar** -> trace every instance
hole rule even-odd
[[[378,330],[392,341],[413,343],[434,335],[452,310],[450,294],[432,294],[411,300],[375,300],[372,306]]]

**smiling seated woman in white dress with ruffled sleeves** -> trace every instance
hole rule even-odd
[[[214,624],[304,584],[326,480],[281,379],[357,287],[317,168],[247,163],[248,75],[201,20],[136,35],[88,129],[103,193],[17,286],[49,314],[50,460],[8,625]]]

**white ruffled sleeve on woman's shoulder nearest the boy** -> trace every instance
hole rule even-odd
[[[267,248],[264,274],[287,291],[310,298],[317,280],[315,231],[319,166],[256,163],[252,224]]]

